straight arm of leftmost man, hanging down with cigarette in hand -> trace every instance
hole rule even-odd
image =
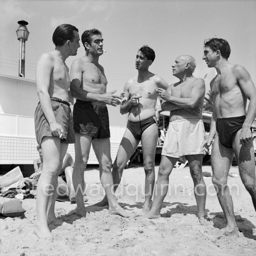
[[[50,95],[48,92],[53,69],[53,58],[50,56],[50,54],[42,54],[36,66],[36,88],[43,113],[49,122],[52,134],[54,136],[60,136],[62,133],[64,133],[64,130],[55,119]]]

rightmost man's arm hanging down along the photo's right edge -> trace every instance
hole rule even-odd
[[[235,74],[236,80],[243,90],[244,95],[250,101],[247,115],[240,133],[240,142],[244,145],[253,140],[250,127],[256,118],[256,89],[253,81],[251,80],[250,74],[244,67],[239,65],[235,66],[233,73]]]

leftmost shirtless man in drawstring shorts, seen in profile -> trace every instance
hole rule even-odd
[[[36,87],[40,102],[35,110],[35,133],[44,158],[43,171],[37,185],[38,238],[51,238],[47,225],[61,225],[54,205],[58,175],[68,143],[74,143],[73,117],[68,103],[70,80],[66,59],[77,54],[78,29],[69,24],[58,26],[53,34],[55,50],[42,54],[36,67]]]

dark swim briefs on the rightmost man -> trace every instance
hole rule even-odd
[[[242,129],[246,116],[217,118],[216,130],[219,134],[219,140],[224,147],[232,148],[232,142],[236,133]],[[252,129],[251,129],[252,131]]]

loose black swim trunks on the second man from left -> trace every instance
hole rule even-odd
[[[74,132],[90,135],[96,139],[110,137],[108,108],[97,101],[80,101],[74,104]]]

